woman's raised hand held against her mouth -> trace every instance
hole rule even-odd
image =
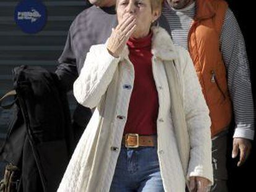
[[[134,33],[136,28],[135,17],[130,15],[122,20],[115,29],[112,29],[111,36],[108,40],[108,51],[114,57],[119,57],[122,49],[126,45],[130,38],[130,35]]]

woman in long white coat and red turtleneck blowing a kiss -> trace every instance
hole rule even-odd
[[[151,27],[160,0],[118,0],[118,25],[92,46],[74,95],[93,117],[59,191],[207,191],[210,118],[187,51]]]

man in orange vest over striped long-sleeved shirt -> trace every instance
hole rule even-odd
[[[237,20],[224,0],[166,0],[160,25],[192,57],[210,109],[215,178],[211,191],[228,191],[226,143],[233,113],[232,157],[240,154],[237,166],[249,156],[254,139],[249,64]]]

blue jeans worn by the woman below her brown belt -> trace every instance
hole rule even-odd
[[[122,146],[110,191],[164,191],[157,148]]]

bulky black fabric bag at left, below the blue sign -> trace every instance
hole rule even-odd
[[[18,191],[56,191],[74,150],[69,105],[55,73],[16,67],[17,100],[0,161],[21,172]]]

